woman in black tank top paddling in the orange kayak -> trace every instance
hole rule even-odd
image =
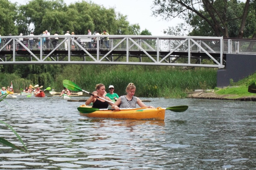
[[[105,85],[104,84],[96,84],[95,89],[96,89],[96,91],[92,93],[93,95],[85,102],[86,105],[89,105],[92,102],[93,108],[97,108],[97,109],[106,109],[106,108],[108,108],[108,104],[110,104],[111,106],[113,105],[111,103],[108,103],[107,101],[97,98],[97,96],[98,96],[101,98],[105,98],[108,101],[111,101],[111,99],[109,97],[105,96]]]

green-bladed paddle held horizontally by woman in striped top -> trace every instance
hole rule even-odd
[[[188,106],[173,106],[173,107],[167,107],[167,108],[162,108],[165,110],[171,110],[173,112],[184,112],[186,111]],[[126,108],[120,108],[120,110],[124,110]],[[95,111],[99,110],[115,110],[115,109],[97,109],[97,108],[92,108],[92,107],[78,107],[77,110],[81,113],[93,113]]]

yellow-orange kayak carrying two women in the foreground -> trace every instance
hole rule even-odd
[[[112,118],[112,119],[150,119],[150,120],[164,120],[165,109],[161,107],[157,108],[134,108],[134,109],[123,109],[123,110],[112,110],[112,109],[95,109],[86,105],[80,110],[81,116],[90,118]],[[91,113],[90,113],[91,112]]]

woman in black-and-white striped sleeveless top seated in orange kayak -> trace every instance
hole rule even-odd
[[[145,105],[141,99],[135,97],[136,86],[133,83],[129,83],[126,87],[127,95],[120,96],[117,101],[112,105],[112,108],[119,110],[119,108],[136,108],[136,104],[140,107],[155,108],[153,106]],[[119,106],[119,107],[118,107]]]

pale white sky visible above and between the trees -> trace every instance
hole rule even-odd
[[[28,0],[18,1],[9,0],[12,3],[26,4]],[[182,22],[181,19],[175,18],[172,21],[163,21],[161,17],[152,16],[151,6],[153,0],[91,0],[95,4],[103,5],[105,8],[114,8],[116,12],[127,15],[127,20],[130,24],[139,24],[141,30],[148,29],[152,35],[161,36],[163,30],[172,27]],[[78,0],[64,0],[69,5],[70,3],[79,2]],[[88,2],[88,1],[87,1]]]

